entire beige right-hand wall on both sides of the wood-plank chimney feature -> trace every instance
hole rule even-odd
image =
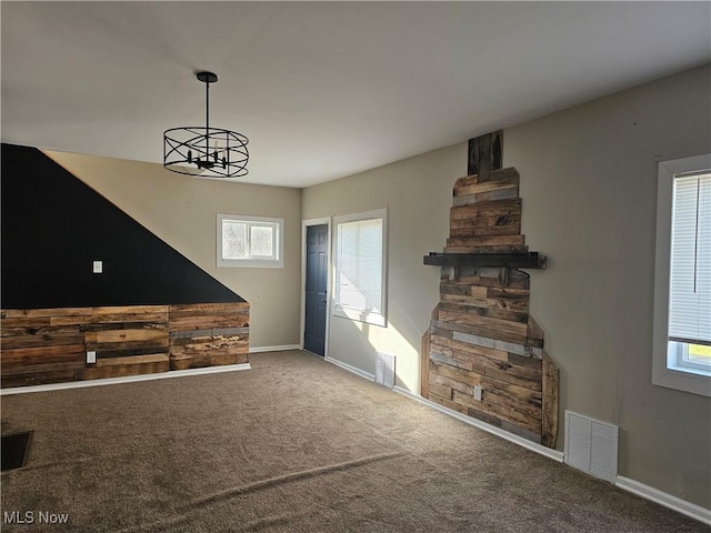
[[[531,312],[561,366],[570,409],[620,425],[620,475],[711,509],[711,399],[651,383],[657,165],[711,147],[709,68],[571,108],[503,134],[521,173],[523,233],[549,268],[532,271]],[[388,205],[389,324],[331,318],[329,355],[372,373],[398,355],[418,390],[418,350],[438,301],[422,255],[448,235],[465,144],[303,191],[304,219]],[[558,449],[563,447],[563,433]]]

